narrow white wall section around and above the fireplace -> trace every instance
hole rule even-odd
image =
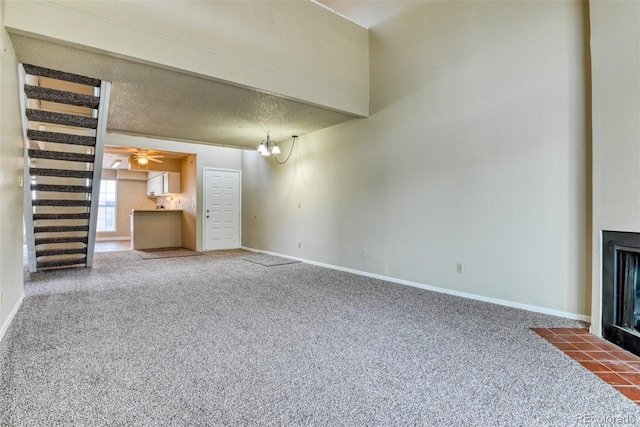
[[[590,2],[592,332],[601,334],[602,231],[640,232],[640,2]]]

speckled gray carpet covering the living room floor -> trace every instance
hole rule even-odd
[[[26,273],[0,343],[0,425],[640,422],[529,330],[578,322],[244,255],[150,269],[105,252],[92,270]]]

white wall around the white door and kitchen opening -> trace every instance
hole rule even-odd
[[[105,139],[106,145],[117,145],[121,147],[136,147],[155,150],[174,151],[177,153],[190,153],[197,156],[197,192],[196,195],[189,199],[181,197],[180,202],[174,206],[175,209],[192,210],[196,209],[196,247],[198,251],[202,251],[202,169],[220,168],[220,169],[236,169],[242,167],[240,152],[235,148],[217,147],[205,144],[192,144],[186,142],[170,141],[155,138],[143,138],[139,136],[129,136],[117,133],[107,133]],[[184,196],[184,195],[181,195]],[[193,206],[193,207],[192,207]]]

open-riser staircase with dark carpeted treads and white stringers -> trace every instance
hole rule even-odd
[[[29,271],[91,267],[109,82],[20,66]]]

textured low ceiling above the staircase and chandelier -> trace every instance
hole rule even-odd
[[[112,83],[107,130],[255,148],[355,117],[259,90],[17,34],[18,61]]]

